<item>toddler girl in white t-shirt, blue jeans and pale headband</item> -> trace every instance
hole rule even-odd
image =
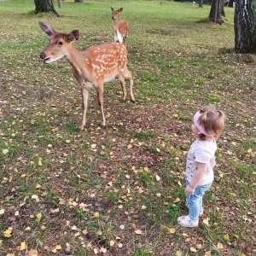
[[[197,227],[203,214],[202,197],[211,188],[215,166],[216,140],[224,130],[224,113],[212,106],[201,108],[194,115],[192,131],[196,140],[191,144],[186,163],[186,205],[189,215],[177,218],[183,227]]]

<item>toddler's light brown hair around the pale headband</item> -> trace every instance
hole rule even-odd
[[[214,133],[216,139],[224,131],[224,119],[225,115],[223,111],[217,110],[212,105],[205,106],[199,110],[201,116],[198,119],[200,125],[202,125],[207,133]],[[200,134],[201,140],[206,139],[205,134]]]

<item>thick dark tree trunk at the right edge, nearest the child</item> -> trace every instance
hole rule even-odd
[[[234,29],[236,53],[255,53],[256,0],[236,0]]]

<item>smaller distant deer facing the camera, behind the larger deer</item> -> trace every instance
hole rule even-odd
[[[124,43],[126,46],[128,36],[128,23],[125,20],[118,20],[119,13],[123,10],[120,8],[114,10],[112,7],[112,20],[113,20],[113,41],[118,43]]]

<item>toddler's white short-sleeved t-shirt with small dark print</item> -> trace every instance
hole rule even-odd
[[[213,181],[213,167],[215,166],[215,152],[217,150],[217,143],[212,137],[213,142],[195,140],[189,148],[186,163],[186,177],[189,183],[196,171],[196,162],[207,164],[207,172],[202,177],[198,185],[205,185]]]

